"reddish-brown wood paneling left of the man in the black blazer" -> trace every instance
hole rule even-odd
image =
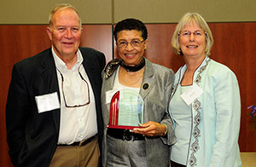
[[[15,62],[49,48],[46,26],[0,26],[0,166],[12,166],[7,153],[5,104]],[[15,105],[15,104],[14,104]]]

